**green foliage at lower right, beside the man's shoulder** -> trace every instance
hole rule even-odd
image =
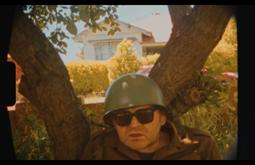
[[[219,92],[216,103],[207,101],[180,118],[184,125],[212,135],[222,154],[237,140],[237,90],[233,84],[227,88]],[[230,96],[231,90],[235,90],[233,98]]]

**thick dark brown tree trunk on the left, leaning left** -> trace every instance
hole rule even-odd
[[[24,72],[20,93],[44,120],[55,159],[77,159],[89,138],[88,123],[56,50],[21,12],[14,20],[10,53]]]

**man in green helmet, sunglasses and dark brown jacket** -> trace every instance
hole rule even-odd
[[[158,85],[140,74],[126,74],[106,92],[104,121],[113,129],[94,137],[81,159],[220,159],[206,133],[187,128],[180,137],[168,119]]]

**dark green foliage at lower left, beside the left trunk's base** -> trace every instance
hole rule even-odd
[[[16,115],[19,115],[23,123],[17,128],[12,128],[16,158],[18,160],[53,159],[45,125],[35,111],[30,106],[26,106],[24,111]]]

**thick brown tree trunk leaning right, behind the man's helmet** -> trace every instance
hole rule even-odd
[[[220,41],[233,12],[227,6],[169,6],[173,21],[170,40],[150,72],[166,98],[171,117],[187,112],[197,103],[190,89],[206,59]],[[176,26],[176,27],[175,27]]]

